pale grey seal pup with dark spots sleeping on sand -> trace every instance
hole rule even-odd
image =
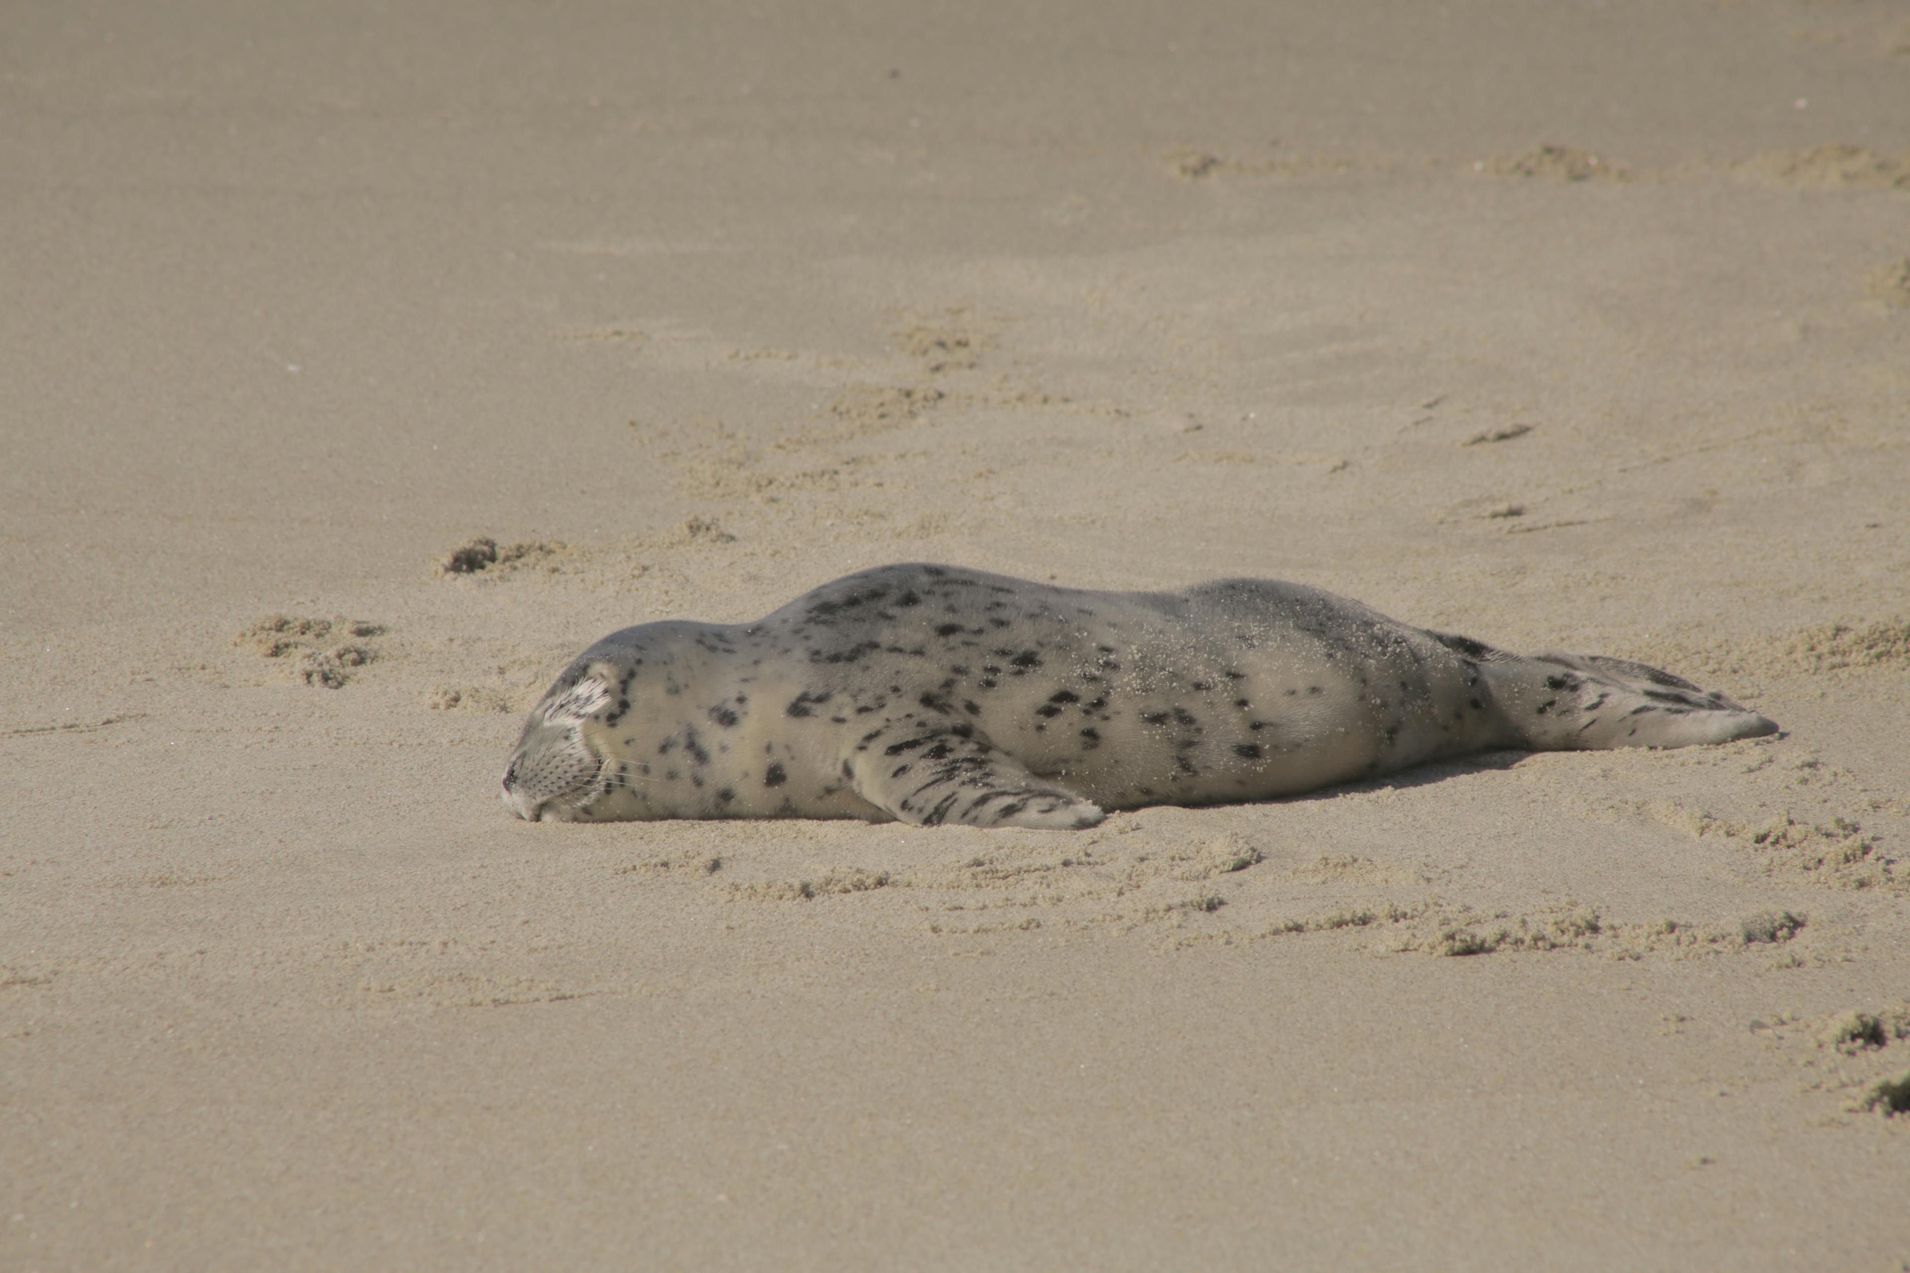
[[[1509,655],[1301,584],[1083,592],[884,565],[753,624],[604,637],[525,721],[504,805],[1075,828],[1492,748],[1774,731],[1641,662]]]

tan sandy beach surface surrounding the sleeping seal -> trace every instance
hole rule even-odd
[[[1280,8],[0,8],[0,1267],[1910,1267],[1910,10]],[[894,559],[1786,733],[500,809]]]

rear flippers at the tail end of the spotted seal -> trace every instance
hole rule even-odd
[[[1696,746],[1778,731],[1725,695],[1627,658],[1534,655],[1482,666],[1515,746],[1534,752]]]

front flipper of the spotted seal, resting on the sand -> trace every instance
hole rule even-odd
[[[884,725],[863,737],[842,767],[858,796],[917,826],[1077,830],[1106,817],[1100,805],[1037,779],[970,725]]]

